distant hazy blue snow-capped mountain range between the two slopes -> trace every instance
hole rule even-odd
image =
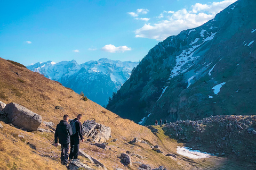
[[[138,64],[101,58],[99,61],[89,61],[80,65],[75,60],[59,63],[47,61],[27,68],[58,81],[77,93],[83,91],[89,99],[103,106],[107,105],[113,92],[130,78],[132,69]]]

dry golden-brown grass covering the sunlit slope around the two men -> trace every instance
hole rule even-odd
[[[17,72],[19,75],[16,74]],[[6,104],[14,102],[25,106],[40,114],[43,121],[51,121],[55,125],[62,120],[64,114],[75,118],[78,113],[81,113],[83,114],[81,122],[93,119],[109,126],[113,139],[118,139],[116,142],[109,143],[108,148],[111,149],[103,150],[86,142],[81,143],[82,150],[98,159],[108,169],[137,169],[138,164],[126,167],[120,162],[121,153],[127,150],[134,154],[131,156],[132,162],[142,162],[153,168],[163,165],[167,169],[191,169],[195,164],[201,165],[198,162],[191,163],[182,157],[177,159],[166,157],[165,154],[175,154],[179,144],[166,137],[161,130],[155,135],[145,126],[123,119],[91,100],[84,101],[81,95],[63,87],[60,83],[7,62],[3,58],[0,58],[0,100]],[[63,110],[55,109],[55,106],[61,106]],[[66,168],[60,164],[60,148],[52,146],[53,133],[25,132],[4,122],[1,123],[4,129],[0,130],[0,169]],[[41,128],[46,127],[42,124]],[[17,137],[20,134],[24,135],[25,139]],[[134,137],[158,145],[165,154],[159,154],[143,143],[136,145],[127,143]],[[136,156],[137,154],[143,159]],[[91,165],[86,159],[80,158]],[[94,165],[91,166],[97,169]]]

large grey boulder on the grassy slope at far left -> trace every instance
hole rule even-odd
[[[3,112],[7,114],[7,117],[13,125],[28,131],[37,131],[38,126],[42,123],[41,115],[16,103],[7,104]]]

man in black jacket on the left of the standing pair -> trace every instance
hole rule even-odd
[[[60,160],[62,165],[68,164],[68,150],[69,150],[69,143],[70,137],[72,135],[72,128],[70,124],[68,124],[69,116],[64,115],[63,120],[57,125],[54,134],[54,146],[58,146],[58,138],[59,143],[61,144],[61,155]]]

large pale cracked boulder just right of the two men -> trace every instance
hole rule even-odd
[[[91,137],[95,142],[106,142],[109,140],[111,129],[108,126],[87,120],[83,123],[83,135]]]

